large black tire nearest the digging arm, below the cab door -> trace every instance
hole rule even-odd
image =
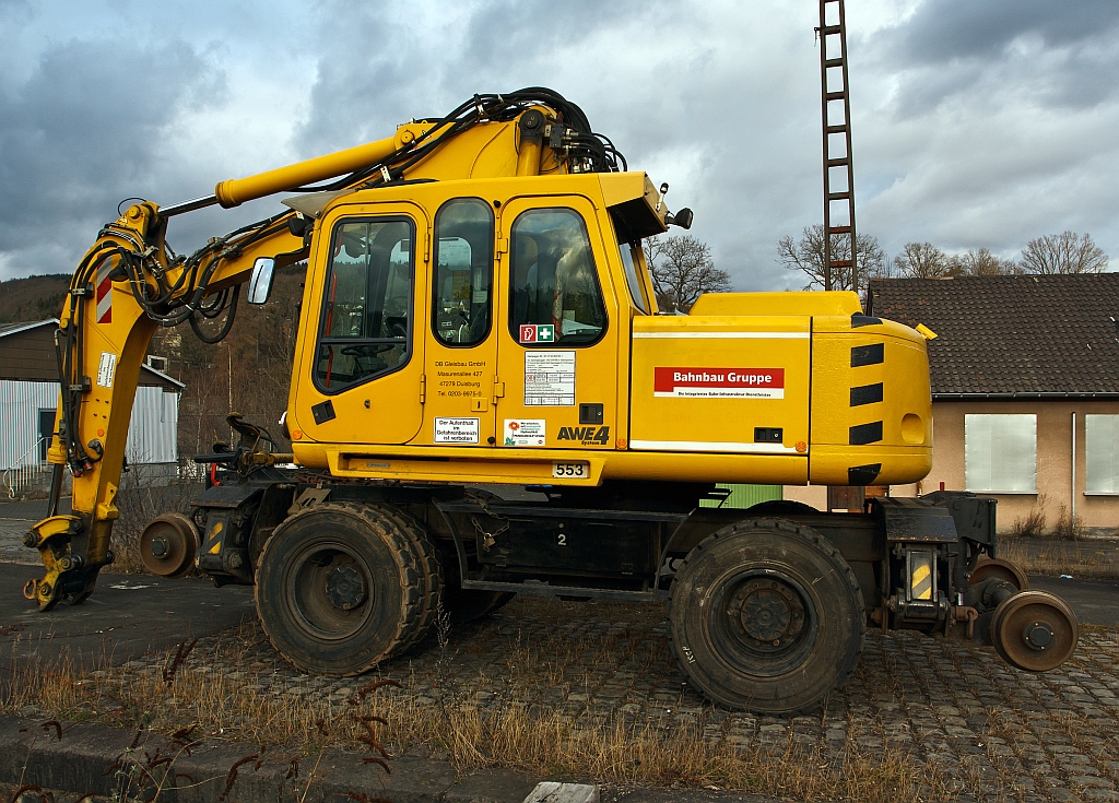
[[[342,571],[364,583],[352,610],[329,596],[331,575]],[[423,605],[421,576],[393,517],[363,504],[318,504],[284,521],[264,545],[256,611],[272,645],[297,668],[359,674],[411,643]]]

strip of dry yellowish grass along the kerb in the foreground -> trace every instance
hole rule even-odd
[[[711,733],[712,709],[687,724],[671,718],[637,722],[622,716],[592,722],[563,699],[534,701],[539,699],[537,681],[529,681],[529,676],[577,688],[576,678],[560,665],[563,655],[557,652],[534,653],[526,648],[510,655],[524,680],[514,681],[500,705],[488,705],[469,690],[432,699],[431,688],[422,688],[415,679],[401,689],[356,683],[346,699],[309,700],[305,689],[273,693],[231,676],[227,668],[244,665],[237,650],[256,636],[246,627],[223,642],[199,646],[175,671],[169,671],[176,663],[175,651],[164,656],[162,667],[90,672],[78,671],[64,658],[19,674],[0,690],[0,710],[120,727],[145,725],[163,734],[196,725],[198,734],[283,745],[311,756],[331,745],[368,750],[374,759],[377,754],[368,738],[374,736],[397,754],[445,756],[460,772],[508,767],[551,776],[590,775],[605,783],[715,786],[805,801],[914,800],[919,791],[927,800],[951,799],[942,782],[908,749],[862,748],[854,738],[858,722],[848,726],[852,738],[835,749],[822,740],[803,744],[783,734],[775,741],[740,745]]]

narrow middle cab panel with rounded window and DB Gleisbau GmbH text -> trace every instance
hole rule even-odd
[[[452,198],[435,212],[424,425],[413,443],[496,442],[493,238],[493,209],[487,200]]]

